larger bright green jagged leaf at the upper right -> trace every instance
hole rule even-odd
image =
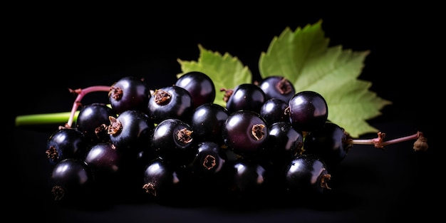
[[[354,138],[377,132],[366,120],[381,115],[380,110],[392,102],[370,91],[372,83],[358,79],[370,52],[328,47],[328,42],[321,21],[294,32],[286,28],[261,54],[261,77],[284,76],[297,92],[320,93],[328,103],[328,119]]]

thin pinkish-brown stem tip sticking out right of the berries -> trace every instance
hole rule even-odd
[[[361,145],[374,145],[376,148],[382,149],[386,145],[395,144],[398,142],[404,142],[408,140],[416,140],[413,144],[413,149],[415,151],[425,151],[427,150],[427,138],[424,137],[422,132],[418,131],[413,135],[408,135],[402,138],[396,138],[393,140],[384,141],[385,133],[379,132],[377,138],[368,139],[368,140],[358,140],[352,139],[351,142],[353,144],[361,144]]]

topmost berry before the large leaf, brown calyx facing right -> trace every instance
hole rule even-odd
[[[283,76],[269,76],[261,80],[259,87],[264,91],[266,98],[277,98],[286,103],[294,96],[296,90],[293,83]]]

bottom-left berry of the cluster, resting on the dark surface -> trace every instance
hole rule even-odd
[[[79,159],[65,159],[53,167],[51,192],[56,202],[81,201],[92,191],[93,172]]]

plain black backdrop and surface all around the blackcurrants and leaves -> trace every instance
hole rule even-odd
[[[48,162],[43,147],[56,126],[7,129],[12,145],[4,171],[12,201],[6,204],[21,214],[45,222],[395,222],[405,219],[432,222],[439,216],[434,205],[443,202],[439,140],[431,121],[443,113],[431,103],[437,94],[434,53],[437,45],[436,14],[424,6],[413,9],[296,9],[291,6],[259,6],[259,9],[202,11],[147,11],[120,14],[101,9],[81,11],[20,11],[19,25],[9,37],[13,50],[9,63],[14,90],[7,96],[9,124],[16,115],[71,110],[74,97],[67,88],[110,85],[127,75],[143,76],[152,86],[175,82],[180,72],[177,58],[197,60],[197,44],[243,61],[254,75],[260,53],[286,26],[313,24],[323,19],[331,45],[353,51],[370,50],[360,78],[372,81],[380,97],[393,101],[383,115],[370,120],[388,138],[425,133],[430,148],[413,152],[413,141],[390,145],[386,150],[356,145],[333,176],[333,194],[319,205],[284,199],[286,205],[269,205],[237,211],[231,202],[208,207],[170,207],[152,202],[113,204],[88,211],[58,207],[48,199]],[[237,8],[237,7],[234,7]],[[435,7],[434,7],[435,8]],[[308,8],[307,8],[308,9]],[[272,16],[271,11],[285,11]],[[251,16],[244,16],[247,14]],[[204,19],[209,18],[209,19]],[[204,22],[205,21],[205,22]],[[441,89],[441,88],[440,88]],[[435,94],[434,94],[435,93]],[[440,96],[437,94],[437,96]],[[438,98],[438,97],[433,97]],[[106,102],[91,95],[85,103]],[[435,124],[437,125],[437,124]],[[442,126],[439,126],[442,128]],[[375,137],[365,135],[364,137]],[[218,201],[216,201],[218,202]],[[265,201],[265,203],[268,203]],[[27,213],[33,213],[29,215]]]

